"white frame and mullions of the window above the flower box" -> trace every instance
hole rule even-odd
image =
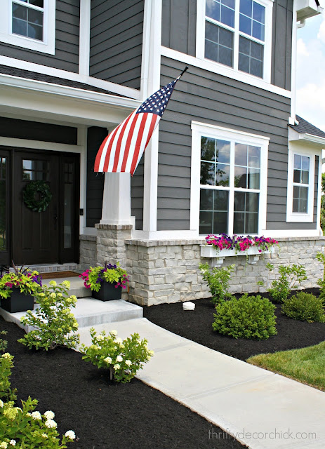
[[[200,210],[200,172],[201,172],[201,136],[230,140],[231,142],[242,143],[260,147],[260,189],[243,189],[243,192],[259,192],[260,201],[258,207],[258,234],[263,234],[266,228],[266,202],[267,202],[267,159],[270,138],[262,135],[245,133],[223,128],[221,126],[210,125],[192,121],[192,163],[191,163],[191,212],[190,229],[197,229],[199,234],[199,210]],[[230,176],[234,176],[234,160],[231,161]],[[213,187],[211,187],[213,188]],[[221,187],[223,189],[223,187]],[[229,190],[229,188],[227,188]],[[232,189],[238,192],[239,189]],[[228,215],[228,232],[232,234],[233,229],[233,204],[230,205]],[[200,234],[201,235],[201,234]]]

